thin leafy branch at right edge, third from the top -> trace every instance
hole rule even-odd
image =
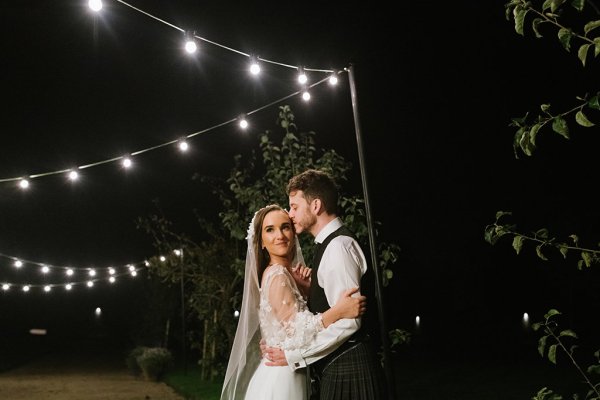
[[[579,245],[579,237],[575,234],[569,235],[569,241],[571,244],[558,241],[554,237],[550,237],[550,232],[546,228],[538,229],[529,235],[520,233],[517,231],[517,227],[514,224],[501,223],[500,220],[505,216],[512,215],[510,211],[498,211],[496,212],[496,220],[494,223],[489,224],[485,227],[485,241],[491,245],[495,245],[498,240],[503,236],[512,237],[512,247],[517,252],[521,253],[523,245],[526,242],[531,242],[535,245],[535,251],[539,258],[547,261],[546,250],[550,248],[557,249],[563,258],[567,258],[569,252],[579,253],[579,260],[577,261],[577,268],[579,270],[583,267],[591,267],[593,264],[600,263],[600,243],[599,248],[590,249],[581,247]]]

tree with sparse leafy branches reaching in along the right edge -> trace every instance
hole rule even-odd
[[[575,29],[566,26],[565,19],[569,21],[580,21],[581,15],[573,15],[570,12],[581,13],[584,11],[584,5],[594,4],[584,0],[573,0],[569,4],[565,0],[545,0],[541,6],[536,7],[535,2],[525,0],[511,0],[505,5],[506,17],[510,20],[512,17],[515,24],[515,30],[518,34],[524,35],[527,23],[531,23],[532,32],[537,38],[542,38],[542,26],[551,26],[557,31],[557,38],[562,47],[570,52],[573,45],[579,45],[577,57],[583,67],[589,65],[590,54],[597,57],[600,54],[600,20],[584,21],[582,28]],[[541,3],[541,2],[538,2]],[[596,13],[598,9],[594,8]],[[574,11],[573,11],[574,10]],[[529,18],[529,16],[533,16]],[[594,36],[597,35],[597,36]],[[522,118],[514,118],[509,124],[517,128],[513,139],[515,157],[518,158],[520,152],[527,156],[532,156],[536,149],[536,138],[538,133],[545,127],[551,127],[552,131],[561,135],[565,139],[570,138],[569,118],[573,118],[575,123],[582,128],[592,128],[595,126],[588,118],[590,113],[600,110],[599,94],[582,95],[576,97],[576,104],[562,112],[551,112],[550,104],[542,104],[541,115],[529,118],[529,113]],[[507,218],[512,215],[510,211],[499,211],[496,213],[496,219],[492,224],[485,227],[485,240],[494,245],[501,238],[512,238],[512,247],[517,254],[521,254],[522,249],[527,244],[535,246],[535,252],[539,259],[548,261],[550,257],[559,254],[567,259],[568,256],[576,255],[576,265],[579,270],[593,267],[600,262],[600,248],[596,246],[584,246],[580,241],[579,235],[571,233],[565,235],[565,239],[557,239],[547,228],[536,229],[530,234],[521,232],[515,224],[507,222]],[[555,250],[555,252],[553,252]],[[556,318],[560,316],[560,311],[556,309],[549,310],[544,316],[544,321],[535,323],[533,329],[541,330],[543,336],[538,341],[538,351],[542,357],[547,357],[554,364],[557,362],[557,351],[561,350],[571,361],[573,366],[582,376],[582,382],[588,386],[588,391],[584,398],[591,400],[600,399],[600,382],[597,376],[600,374],[600,351],[594,352],[594,361],[586,369],[580,366],[577,361],[575,350],[576,345],[570,345],[569,342],[577,339],[577,334],[571,329],[559,330],[559,324]],[[597,320],[598,316],[590,318]],[[593,376],[596,376],[594,383]],[[579,398],[577,394],[574,399]],[[562,396],[554,393],[546,387],[539,390],[535,400],[560,400]]]

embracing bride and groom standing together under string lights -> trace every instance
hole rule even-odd
[[[248,228],[242,308],[221,400],[378,400],[383,371],[361,329],[367,271],[337,216],[334,180],[307,170],[288,182],[289,211],[258,210]],[[312,269],[297,234],[314,236]]]

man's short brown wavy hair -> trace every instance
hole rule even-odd
[[[286,187],[286,193],[301,190],[307,202],[314,199],[321,200],[325,212],[328,214],[338,214],[338,188],[335,180],[327,172],[308,169],[296,176],[293,176]]]

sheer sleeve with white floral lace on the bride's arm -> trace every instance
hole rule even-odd
[[[284,349],[297,349],[310,343],[323,328],[320,314],[308,311],[292,276],[285,268],[277,270],[265,288],[271,315],[277,321],[278,342]]]

